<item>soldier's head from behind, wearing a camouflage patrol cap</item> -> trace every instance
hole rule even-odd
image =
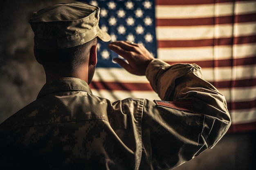
[[[97,40],[111,39],[99,28],[99,12],[99,7],[71,2],[34,13],[29,20],[35,35],[34,52],[46,72],[76,72],[88,62],[92,65],[88,72],[94,73]],[[96,55],[96,61],[90,55]]]

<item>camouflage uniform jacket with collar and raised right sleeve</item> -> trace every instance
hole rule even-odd
[[[72,77],[45,84],[0,125],[0,169],[170,169],[227,132],[225,98],[200,78],[198,65],[156,59],[146,76],[165,101],[111,103]]]

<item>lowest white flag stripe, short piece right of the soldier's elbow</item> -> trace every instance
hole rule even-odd
[[[244,124],[256,121],[256,108],[245,110],[231,110],[232,124]]]

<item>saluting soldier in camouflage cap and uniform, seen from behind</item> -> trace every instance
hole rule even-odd
[[[109,48],[146,75],[162,100],[111,103],[92,94],[99,7],[72,2],[47,7],[29,21],[46,84],[37,99],[0,125],[0,169],[164,170],[212,148],[231,121],[225,97],[196,64],[169,65],[125,41]]]

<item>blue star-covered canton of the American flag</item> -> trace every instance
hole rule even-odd
[[[111,35],[113,42],[127,40],[143,44],[157,57],[153,0],[83,1],[101,8],[99,26]],[[107,46],[108,43],[99,41],[97,67],[120,67],[112,60],[117,54]]]

